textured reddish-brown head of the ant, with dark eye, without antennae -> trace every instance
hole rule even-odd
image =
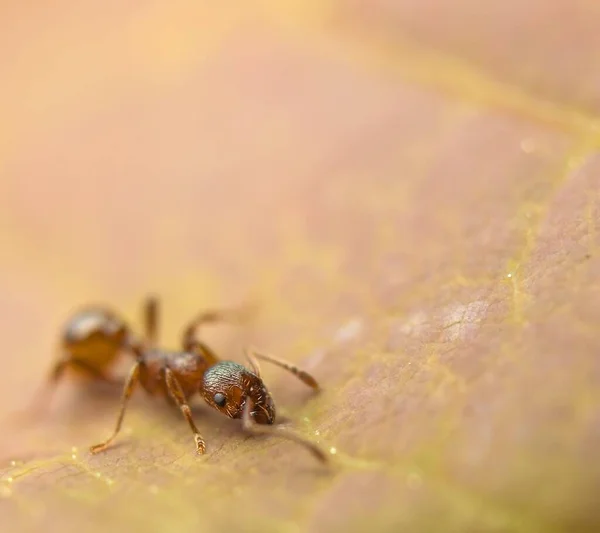
[[[210,367],[201,392],[210,406],[229,418],[241,418],[250,398],[254,422],[275,422],[275,404],[262,379],[238,363],[221,361]]]

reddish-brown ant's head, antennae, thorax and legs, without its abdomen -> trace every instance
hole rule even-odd
[[[149,299],[146,304],[145,343],[135,340],[131,335],[125,335],[125,343],[121,347],[133,353],[136,363],[123,388],[115,429],[104,442],[92,446],[91,453],[105,450],[117,437],[128,401],[139,384],[148,394],[170,398],[177,404],[194,434],[199,454],[205,453],[206,443],[194,423],[188,405],[188,400],[197,393],[220,413],[233,419],[241,418],[245,431],[278,435],[295,441],[306,447],[318,460],[327,462],[326,454],[316,444],[279,426],[273,426],[275,404],[261,379],[257,359],[288,370],[303,383],[319,391],[319,385],[311,375],[291,363],[253,350],[245,351],[252,370],[233,361],[220,360],[198,339],[198,330],[208,323],[232,321],[236,316],[235,311],[200,313],[184,330],[182,351],[167,351],[156,346],[157,314],[158,301]]]

